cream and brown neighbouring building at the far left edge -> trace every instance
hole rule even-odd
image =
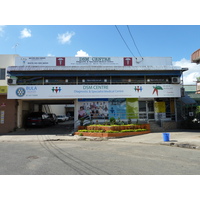
[[[7,67],[15,65],[18,55],[0,55],[0,134],[13,131],[17,126],[17,100],[7,99]]]

